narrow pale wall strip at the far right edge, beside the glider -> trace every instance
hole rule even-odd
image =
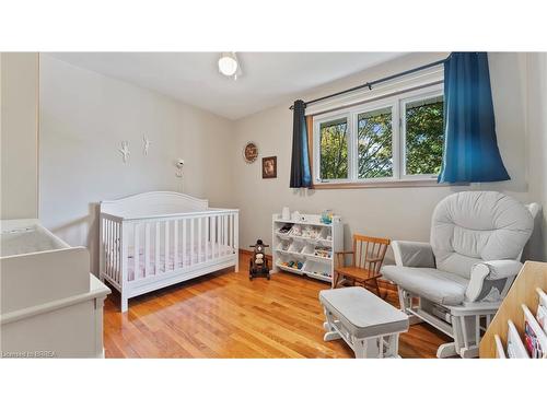
[[[529,196],[544,206],[528,251],[547,260],[547,52],[527,55],[527,74]]]

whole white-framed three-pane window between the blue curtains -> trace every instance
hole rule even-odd
[[[433,179],[443,121],[441,84],[315,116],[315,184]]]

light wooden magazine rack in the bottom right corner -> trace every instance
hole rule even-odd
[[[526,358],[524,340],[525,317],[534,319],[540,296],[547,291],[547,263],[526,261],[480,341],[480,358],[505,358],[508,342],[514,356]],[[545,335],[539,335],[542,341]]]

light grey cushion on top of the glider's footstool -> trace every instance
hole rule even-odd
[[[359,339],[408,329],[406,314],[361,286],[321,291],[319,301]]]

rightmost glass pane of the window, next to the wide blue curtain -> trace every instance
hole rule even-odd
[[[406,104],[406,174],[439,174],[443,156],[443,97]]]

